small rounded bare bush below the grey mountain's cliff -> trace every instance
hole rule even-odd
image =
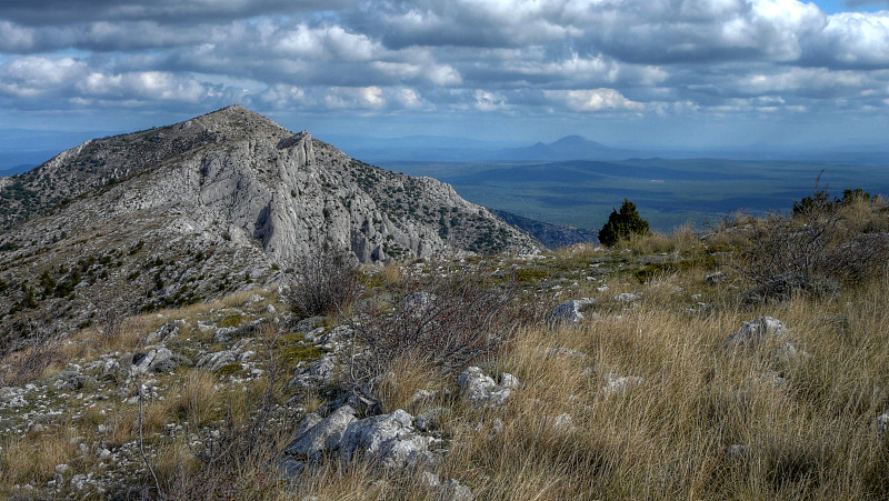
[[[358,295],[360,282],[353,258],[329,246],[302,257],[293,272],[288,301],[300,317],[336,313]]]

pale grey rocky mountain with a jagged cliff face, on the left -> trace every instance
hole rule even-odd
[[[54,330],[271,283],[321,247],[382,262],[529,252],[532,238],[431,178],[240,106],[94,139],[0,178],[0,328]]]

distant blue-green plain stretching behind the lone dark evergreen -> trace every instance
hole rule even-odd
[[[651,228],[696,229],[735,212],[788,212],[818,182],[833,196],[862,188],[889,194],[889,166],[811,161],[633,159],[559,162],[380,162],[409,176],[453,186],[467,200],[526,218],[598,229],[623,198]],[[820,180],[819,180],[820,176]]]

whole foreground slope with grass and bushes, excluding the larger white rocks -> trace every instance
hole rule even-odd
[[[448,409],[429,468],[476,499],[886,499],[888,234],[886,202],[853,196],[607,249],[307,262],[287,294],[106,314],[0,362],[0,497],[439,499],[422,471],[370,459],[281,467],[300,420],[349,401],[360,418]],[[549,315],[581,299],[582,319]],[[763,317],[786,330],[727,341]],[[147,390],[106,372],[161,338],[193,363],[146,372]],[[520,384],[473,407],[467,365]]]

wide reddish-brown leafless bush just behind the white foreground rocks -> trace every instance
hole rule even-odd
[[[450,372],[495,355],[531,317],[517,294],[515,282],[495,283],[470,271],[407,272],[391,285],[390,309],[363,303],[350,321],[363,348],[352,360],[353,382],[362,384],[406,359]]]

